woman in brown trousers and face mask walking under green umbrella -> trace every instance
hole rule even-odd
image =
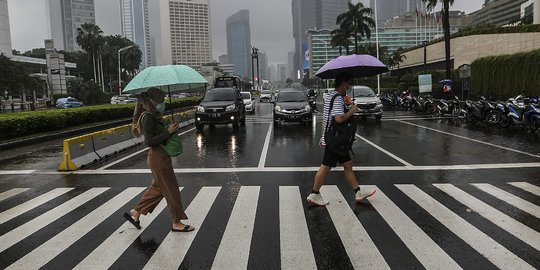
[[[144,135],[145,144],[150,147],[147,156],[148,167],[152,171],[153,179],[150,187],[146,190],[135,208],[124,213],[124,218],[141,229],[139,217],[152,213],[158,203],[165,197],[167,206],[171,212],[172,231],[190,232],[195,227],[181,222],[187,219],[182,208],[180,190],[176,175],[172,167],[171,158],[167,155],[160,144],[164,144],[173,134],[176,134],[179,126],[172,123],[165,128],[161,120],[161,114],[165,111],[163,100],[165,92],[158,88],[151,88],[142,93],[133,113],[133,133],[135,136]]]

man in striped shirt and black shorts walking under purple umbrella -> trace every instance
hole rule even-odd
[[[348,110],[345,108],[345,102],[343,100],[343,97],[347,94],[347,89],[350,87],[350,80],[352,79],[351,75],[348,73],[341,73],[336,77],[336,83],[335,83],[335,91],[332,91],[328,93],[328,96],[326,100],[324,100],[324,112],[323,112],[323,132],[321,136],[321,140],[319,142],[321,147],[324,147],[326,145],[324,140],[324,133],[326,130],[326,124],[329,123],[332,118],[336,120],[338,123],[343,123],[349,120],[349,118],[353,117],[353,114],[358,110],[358,107],[352,106]],[[335,95],[337,95],[336,98],[332,98]],[[330,103],[333,100],[332,110],[330,111]],[[330,121],[329,121],[330,120]],[[317,174],[315,174],[315,179],[313,181],[313,190],[307,197],[307,201],[316,205],[324,206],[327,205],[329,202],[324,200],[321,194],[319,193],[319,189],[324,184],[324,181],[326,180],[326,176],[332,169],[332,167],[335,167],[338,163],[343,164],[343,169],[345,172],[345,179],[351,185],[351,187],[354,189],[355,192],[355,200],[357,202],[360,202],[364,200],[367,197],[372,196],[375,194],[376,190],[367,190],[360,188],[360,185],[358,185],[358,180],[356,179],[356,175],[354,174],[352,170],[352,160],[350,154],[343,153],[342,155],[336,155],[328,151],[327,149],[324,150],[324,156],[321,163],[321,167],[319,167],[319,170],[317,171]]]

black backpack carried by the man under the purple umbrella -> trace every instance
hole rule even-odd
[[[331,116],[334,100],[337,96],[338,94],[334,95],[330,100],[330,110],[328,111],[326,129],[324,131],[324,142],[326,143],[326,151],[337,156],[345,156],[349,151],[352,152],[352,144],[356,137],[356,123],[353,121],[354,117],[351,117],[339,124]],[[330,118],[332,118],[332,121],[330,121]]]

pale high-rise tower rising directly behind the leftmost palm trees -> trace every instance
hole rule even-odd
[[[51,37],[56,49],[68,52],[80,50],[77,28],[96,23],[94,0],[48,0]]]

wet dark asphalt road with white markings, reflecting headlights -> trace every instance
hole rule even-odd
[[[323,195],[331,197],[335,187],[342,197],[330,200],[331,207],[313,207],[305,197],[322,157],[321,117],[311,125],[274,126],[271,108],[258,104],[238,131],[231,126],[205,127],[202,133],[191,127],[182,131],[184,153],[173,158],[173,166],[183,187],[188,223],[195,221],[198,228],[191,236],[170,234],[166,210],[143,217],[144,231],[126,225],[122,213],[138,201],[142,189],[108,205],[151,180],[143,146],[73,174],[56,172],[60,141],[1,153],[0,268],[68,269],[81,264],[92,269],[142,269],[155,261],[161,264],[154,266],[169,268],[164,265],[175,261],[172,257],[156,258],[171,237],[183,237],[176,242],[187,243],[173,249],[174,258],[181,258],[172,263],[174,269],[231,269],[231,265],[281,269],[291,262],[290,250],[311,251],[306,257],[292,252],[297,257],[291,265],[298,269],[433,269],[445,259],[444,269],[540,268],[540,136],[408,112],[385,112],[381,122],[359,119],[353,148],[356,175],[362,185],[376,186],[378,194],[355,204],[353,191],[337,168]],[[520,187],[523,182],[529,185]],[[507,197],[482,190],[486,185]],[[252,186],[258,189],[245,189]],[[280,208],[282,188],[290,186],[297,190],[293,199],[303,213],[293,215],[292,224],[286,223]],[[79,196],[101,187],[107,189],[74,205]],[[202,197],[210,205],[201,210],[205,208],[197,198],[208,187],[218,187],[219,192],[211,199]],[[28,190],[9,197],[16,188]],[[73,189],[39,200],[61,188]],[[438,204],[420,200],[424,195]],[[386,197],[397,210],[385,203]],[[235,208],[244,198],[243,208]],[[107,214],[99,208],[103,205]],[[432,210],[434,205],[442,209]],[[69,211],[55,210],[59,206]],[[95,214],[96,209],[102,214]],[[237,216],[239,225],[234,223]],[[352,221],[347,219],[351,216]],[[149,218],[155,219],[145,223]],[[291,237],[304,232],[308,241],[280,238],[290,228],[300,230]],[[427,244],[415,237],[418,231]],[[114,238],[127,236],[133,238],[125,242]],[[108,241],[111,237],[116,240]],[[223,239],[239,242],[227,248]],[[102,265],[88,264],[85,258],[102,248],[116,255],[108,254]]]

